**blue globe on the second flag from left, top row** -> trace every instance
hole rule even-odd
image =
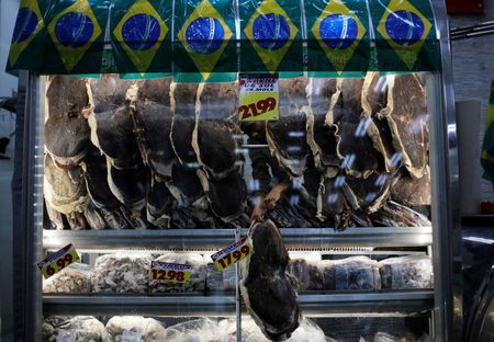
[[[94,24],[91,19],[80,12],[63,15],[55,27],[58,42],[66,47],[81,47],[91,39]]]

